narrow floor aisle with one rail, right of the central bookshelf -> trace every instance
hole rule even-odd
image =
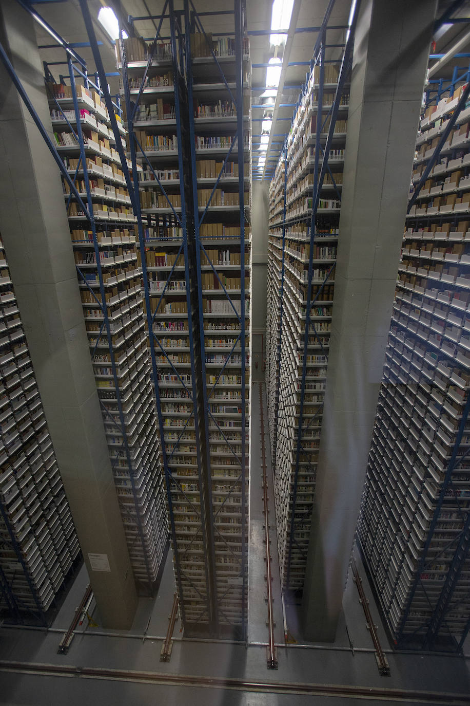
[[[276,621],[274,635],[276,642],[284,642],[283,610],[280,597],[280,575],[278,544],[276,542],[276,515],[274,512],[273,472],[269,453],[268,409],[266,387],[262,383],[264,443],[266,445],[266,474],[269,496],[269,536],[271,537],[271,574],[273,576],[273,615]],[[249,591],[248,591],[248,640],[267,642],[268,606],[266,604],[266,554],[264,546],[263,489],[261,487],[261,414],[259,404],[259,383],[252,385],[252,438],[251,475],[249,484]]]

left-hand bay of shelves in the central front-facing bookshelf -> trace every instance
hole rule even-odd
[[[132,91],[138,94],[150,52],[150,44],[145,42],[137,42],[137,52],[133,46],[135,41],[123,42],[126,55],[123,63],[127,66],[130,85],[134,87],[131,88],[131,97]],[[185,214],[182,215],[183,203],[187,210],[190,167],[187,144],[178,143],[181,126],[175,119],[175,90],[178,90],[181,109],[187,100],[185,86],[179,78],[182,69],[177,64],[175,75],[174,68],[170,42],[160,43],[138,104],[134,134],[137,157],[142,163],[140,203],[145,273],[155,337],[159,422],[163,430],[162,472],[167,475],[167,509],[171,527],[174,527],[175,573],[187,629],[188,623],[197,623],[201,616],[206,615],[207,619],[208,589],[203,546],[206,498],[199,450],[199,392],[194,379],[194,371],[200,369],[200,353],[194,348],[197,282],[194,267],[190,267],[190,250],[184,244],[188,237],[183,231]],[[165,92],[165,96],[158,99],[160,105],[152,98],[155,95],[151,91],[153,85],[163,86],[159,88]],[[183,174],[180,173],[178,150],[187,167]]]

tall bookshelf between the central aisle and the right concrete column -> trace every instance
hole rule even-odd
[[[327,63],[324,47],[316,48],[269,189],[266,385],[288,600],[302,594],[307,562],[349,104],[345,67]]]

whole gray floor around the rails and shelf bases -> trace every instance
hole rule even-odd
[[[266,400],[264,400],[266,405]],[[265,420],[267,418],[265,407]],[[116,681],[114,678],[70,678],[66,676],[39,676],[37,674],[16,674],[0,671],[0,703],[2,705],[51,706],[64,703],[66,706],[89,704],[147,705],[163,704],[172,706],[297,706],[326,704],[329,706],[365,706],[395,703],[415,703],[415,698],[394,699],[357,697],[351,695],[321,695],[316,688],[314,695],[276,693],[275,684],[296,683],[312,685],[338,684],[368,688],[401,688],[404,690],[435,690],[438,693],[459,693],[462,702],[470,703],[469,660],[438,655],[388,654],[391,675],[378,674],[373,654],[371,638],[366,630],[364,614],[359,605],[357,590],[348,578],[343,601],[343,615],[338,628],[338,636],[333,645],[292,645],[278,648],[279,668],[266,669],[266,603],[264,602],[264,544],[263,514],[261,510],[261,468],[259,457],[259,388],[252,390],[252,481],[250,489],[249,555],[249,644],[195,642],[185,640],[180,625],[175,627],[175,642],[171,662],[159,662],[162,640],[168,626],[168,615],[173,604],[175,590],[171,554],[163,572],[159,593],[154,600],[140,599],[139,608],[132,630],[126,635],[117,631],[102,630],[84,624],[82,633],[75,635],[70,651],[66,656],[56,654],[61,633],[66,630],[73,616],[75,606],[80,602],[88,578],[85,570],[78,575],[61,611],[47,632],[22,628],[0,628],[0,669],[2,661],[41,663],[125,670],[135,681]],[[267,437],[266,429],[266,439]],[[269,456],[267,454],[267,456]],[[268,458],[267,458],[268,461]],[[268,467],[271,474],[271,468]],[[272,482],[270,492],[270,522],[274,524]],[[273,592],[276,616],[276,640],[283,644],[283,618],[280,602],[280,580],[276,553],[276,536],[272,530],[271,548],[273,551]],[[371,610],[379,627],[382,645],[390,649],[381,626],[378,611],[373,603],[371,590],[366,580],[359,556],[357,566],[364,582],[364,590],[371,602]],[[93,621],[99,623],[99,616],[92,611]],[[295,621],[288,625],[290,632],[300,642],[299,626]],[[256,643],[263,643],[261,645]],[[351,649],[352,645],[352,649]],[[220,688],[217,684],[208,686],[181,686],[174,678],[173,683],[138,683],[132,671],[147,671],[168,677],[176,675],[204,676],[209,678],[230,677],[240,680],[263,682],[273,685],[271,693],[259,693],[251,687]],[[236,685],[234,685],[236,687]],[[372,698],[371,698],[372,697]],[[419,700],[420,703],[431,703]],[[444,696],[444,704],[452,702],[450,695]]]

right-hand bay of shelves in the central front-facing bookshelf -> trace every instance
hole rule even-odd
[[[243,635],[245,626],[242,620],[245,616],[246,621],[247,617],[251,238],[248,220],[245,243],[240,247],[240,220],[245,222],[250,208],[248,43],[245,42],[242,60],[243,134],[236,141],[235,42],[230,37],[212,41],[214,53],[222,62],[223,78],[216,69],[204,36],[192,35],[191,44],[195,48],[192,95],[197,212],[202,246],[200,282],[204,340],[201,340],[201,348],[206,374],[208,465],[214,512],[214,576],[220,604],[219,622],[225,630],[235,627]],[[240,152],[244,164],[243,210],[239,195]],[[211,198],[214,186],[216,190]],[[242,268],[244,292],[240,288]],[[239,320],[242,297],[245,299],[245,361],[242,361],[241,341],[237,341],[242,335]],[[242,386],[245,390],[245,440],[242,438]],[[243,442],[245,469],[242,477]],[[243,483],[245,488],[242,488]],[[242,493],[245,494],[245,508],[242,508]],[[242,536],[245,556],[242,554]],[[245,578],[241,567],[244,567]]]

